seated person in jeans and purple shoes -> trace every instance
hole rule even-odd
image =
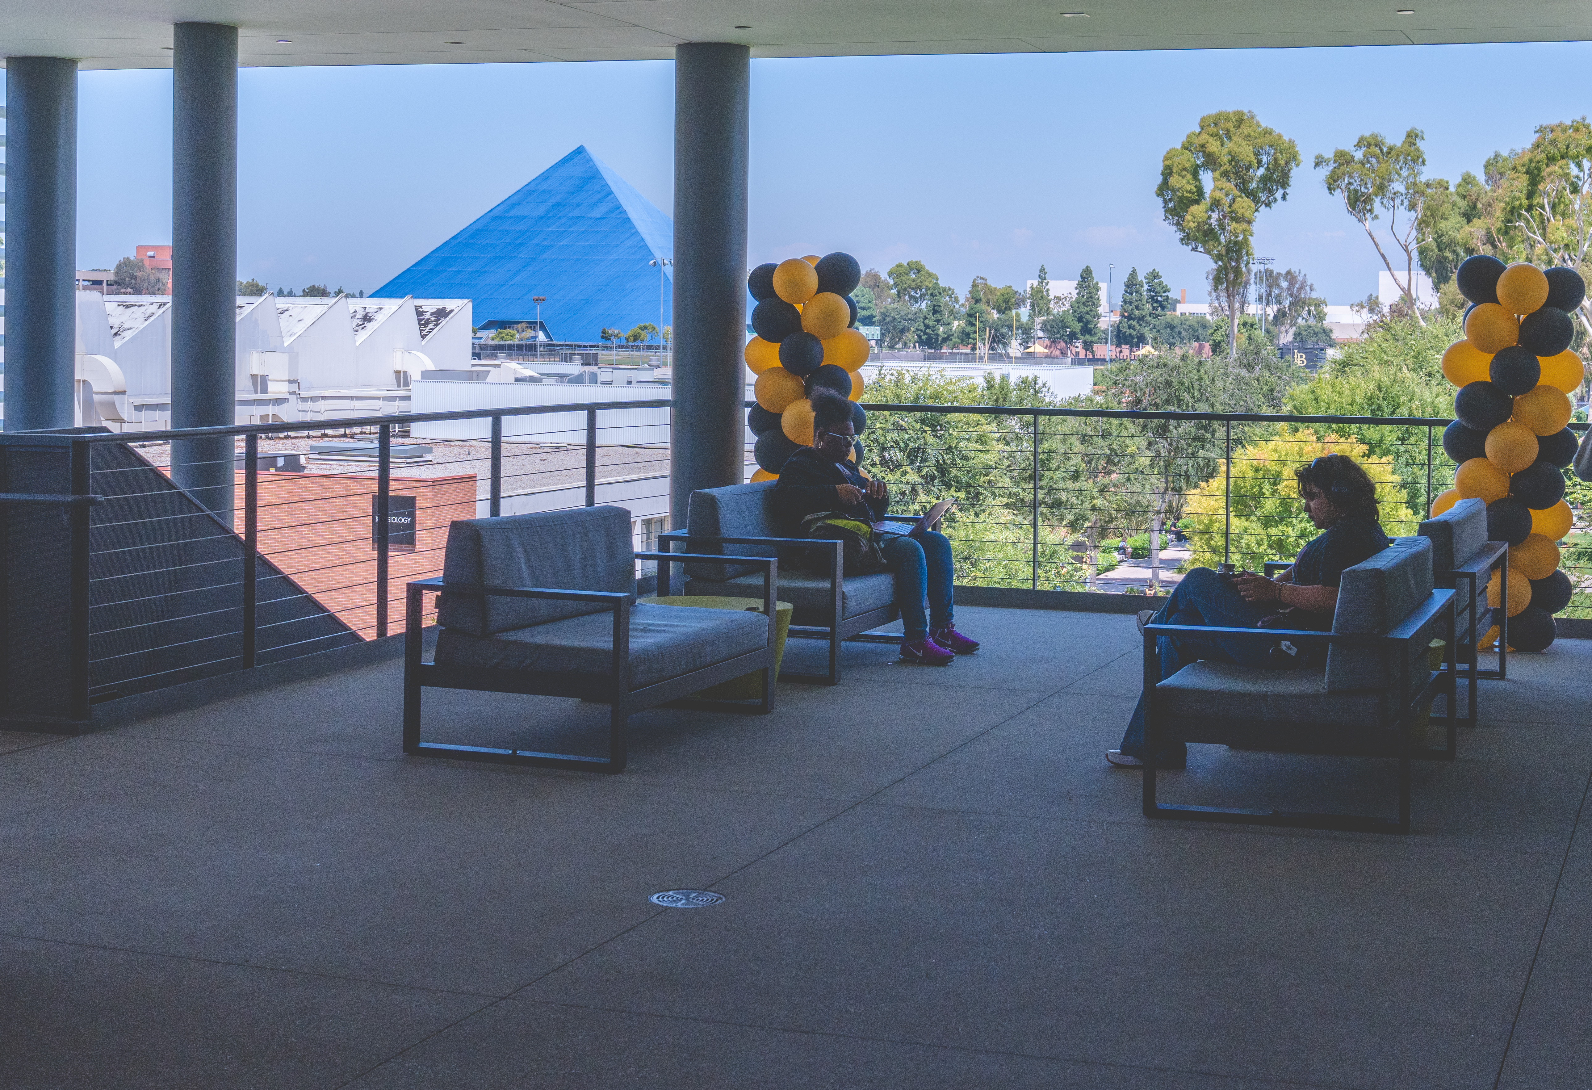
[[[890,503],[884,481],[864,476],[847,461],[856,430],[852,403],[833,390],[812,391],[812,446],[801,447],[780,468],[774,485],[774,509],[788,536],[801,536],[801,522],[817,512],[839,512],[869,525],[880,522]],[[957,656],[979,649],[977,640],[957,632],[952,584],[955,565],[950,541],[935,530],[922,533],[876,530],[874,541],[895,576],[901,606],[901,660],[931,667],[950,665]],[[923,603],[928,601],[925,611]]]

